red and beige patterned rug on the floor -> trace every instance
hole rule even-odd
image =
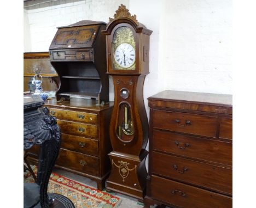
[[[32,166],[32,168],[36,174],[37,167]],[[28,171],[24,173],[24,182],[34,182]],[[121,201],[105,191],[99,191],[55,173],[51,174],[48,192],[64,195],[77,208],[112,208],[117,207]]]

